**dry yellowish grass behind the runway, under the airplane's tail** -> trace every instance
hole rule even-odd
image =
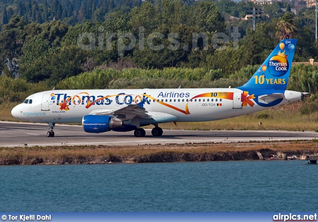
[[[291,130],[318,129],[318,112],[301,114],[302,102],[296,102],[266,111],[259,111],[234,118],[208,122],[177,122],[160,124],[164,129],[192,130]],[[262,122],[262,125],[259,125]],[[152,128],[152,126],[149,126]]]

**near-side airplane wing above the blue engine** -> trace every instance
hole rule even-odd
[[[143,107],[144,102],[141,102],[139,104],[130,104],[127,107],[122,107],[117,110],[106,110],[106,109],[100,109],[95,110],[92,115],[113,115],[117,118],[125,121],[132,119],[134,117],[140,117],[140,118],[151,118],[149,114],[147,114],[148,111]]]

